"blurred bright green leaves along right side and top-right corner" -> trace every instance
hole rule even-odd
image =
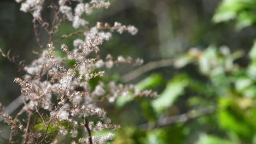
[[[255,5],[254,0],[224,0],[212,20],[219,23],[236,19],[237,30],[253,26]],[[180,73],[166,81],[159,97],[138,100],[147,119],[144,122],[149,122],[147,129],[141,130],[138,125],[124,128],[118,131],[113,143],[255,143],[255,53],[256,41],[246,54],[242,50],[232,52],[226,46],[211,45],[205,50],[190,49],[176,57],[173,66]],[[241,65],[241,59],[247,59],[247,64]],[[187,67],[195,67],[196,76],[187,71]],[[152,84],[158,79],[149,76],[139,82],[143,83],[141,89],[149,88],[147,85],[158,87]],[[129,104],[126,102],[119,107]],[[182,118],[181,113],[198,114],[200,109],[210,106],[214,107],[210,115],[201,113],[195,119],[188,116],[189,120],[184,122],[174,119],[174,122],[166,121],[164,127],[158,127],[159,119],[173,115]],[[183,112],[184,109],[189,112]]]

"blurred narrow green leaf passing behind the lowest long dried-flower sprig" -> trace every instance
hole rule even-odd
[[[154,88],[162,83],[162,76],[160,74],[152,74],[146,79],[138,82],[135,87],[142,91],[146,88]],[[126,103],[129,103],[132,100],[131,94],[126,97],[118,97],[116,100],[117,107],[123,107]]]

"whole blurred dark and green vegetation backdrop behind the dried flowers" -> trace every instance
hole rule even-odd
[[[32,16],[19,7],[15,1],[0,2],[0,47],[30,63],[39,47]],[[113,0],[108,10],[88,17],[91,25],[119,21],[139,29],[134,37],[114,35],[100,55],[141,57],[144,69],[120,65],[107,70],[106,79],[160,94],[156,99],[120,98],[115,105],[101,104],[122,126],[112,143],[256,143],[255,8],[255,0]],[[43,15],[51,18],[50,11]],[[72,30],[67,23],[59,34]],[[40,37],[46,34],[42,31]],[[72,45],[73,39],[56,46]],[[13,83],[13,77],[22,75],[17,71],[0,57],[3,105],[19,95]],[[4,139],[8,129],[1,122]]]

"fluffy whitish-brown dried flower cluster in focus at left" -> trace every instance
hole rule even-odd
[[[111,124],[106,111],[96,105],[97,101],[108,99],[113,103],[117,97],[127,95],[157,96],[155,92],[141,92],[133,85],[116,82],[109,82],[106,85],[99,82],[94,89],[89,85],[90,79],[104,75],[104,71],[99,68],[109,69],[120,63],[134,65],[143,63],[142,59],[123,56],[114,59],[108,55],[104,60],[99,57],[88,58],[91,53],[100,50],[100,45],[112,37],[112,32],[127,31],[132,35],[136,34],[138,30],[134,26],[123,26],[118,22],[110,26],[108,23],[98,22],[95,27],[83,31],[84,39],[73,41],[73,49],[69,49],[65,44],[61,45],[61,49],[66,52],[65,57],[60,58],[54,55],[56,48],[51,36],[57,32],[56,29],[63,20],[72,21],[74,28],[85,27],[88,21],[81,16],[91,14],[93,9],[108,8],[109,2],[104,0],[92,0],[90,3],[84,3],[83,0],[53,2],[50,7],[56,11],[56,23],[53,22],[52,29],[49,29],[48,24],[41,17],[41,11],[46,5],[44,0],[16,0],[16,2],[21,3],[21,11],[32,13],[34,23],[41,23],[45,31],[49,32],[50,43],[38,59],[24,67],[27,74],[14,80],[21,87],[24,101],[24,106],[18,115],[13,119],[3,113],[0,114],[0,117],[3,117],[13,129],[10,143],[15,142],[13,131],[16,130],[20,130],[17,133],[23,133],[23,143],[43,143],[46,140],[57,143],[58,140],[54,139],[53,134],[69,135],[74,138],[72,143],[104,143],[112,140],[114,135],[108,133],[103,136],[92,136],[91,131],[116,130],[120,126]],[[74,9],[70,3],[76,4]],[[74,61],[74,65],[67,67],[66,61]],[[26,123],[19,120],[22,113],[28,114]],[[96,120],[88,122],[88,118],[91,117]],[[84,121],[81,121],[83,119]],[[40,127],[36,129],[36,126]],[[79,129],[87,132],[88,136],[78,137]]]

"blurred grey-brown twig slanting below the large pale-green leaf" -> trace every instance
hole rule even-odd
[[[168,125],[176,124],[180,122],[183,122],[183,123],[189,122],[193,119],[196,119],[202,116],[211,115],[215,111],[216,109],[214,107],[204,107],[200,110],[189,111],[181,115],[159,118],[152,128],[166,127]],[[147,129],[150,129],[150,125],[152,125],[152,123],[144,123],[139,125],[138,127],[141,129],[147,130]]]

